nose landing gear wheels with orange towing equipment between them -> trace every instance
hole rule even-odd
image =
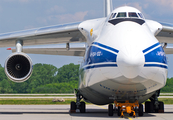
[[[143,116],[143,105],[139,104],[138,101],[135,103],[129,103],[128,100],[125,103],[117,103],[114,101],[115,107],[118,108],[117,115],[124,117],[124,112],[128,113],[130,116],[136,117],[136,112],[138,112],[139,116]],[[113,105],[109,104],[108,106],[108,115],[113,116]]]

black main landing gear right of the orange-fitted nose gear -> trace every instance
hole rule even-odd
[[[160,90],[150,98],[150,101],[145,102],[146,113],[164,113],[164,103],[158,101]]]

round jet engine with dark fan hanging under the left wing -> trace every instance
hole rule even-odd
[[[32,60],[22,52],[12,53],[5,62],[5,73],[14,82],[24,82],[32,74]]]

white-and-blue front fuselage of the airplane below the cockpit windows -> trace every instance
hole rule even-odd
[[[145,20],[107,19],[100,28],[80,67],[79,91],[86,100],[141,103],[166,84],[166,56]]]

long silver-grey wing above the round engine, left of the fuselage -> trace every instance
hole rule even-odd
[[[80,22],[0,34],[0,47],[13,47],[17,40],[22,40],[24,46],[85,42],[85,37],[78,29],[79,24]]]

